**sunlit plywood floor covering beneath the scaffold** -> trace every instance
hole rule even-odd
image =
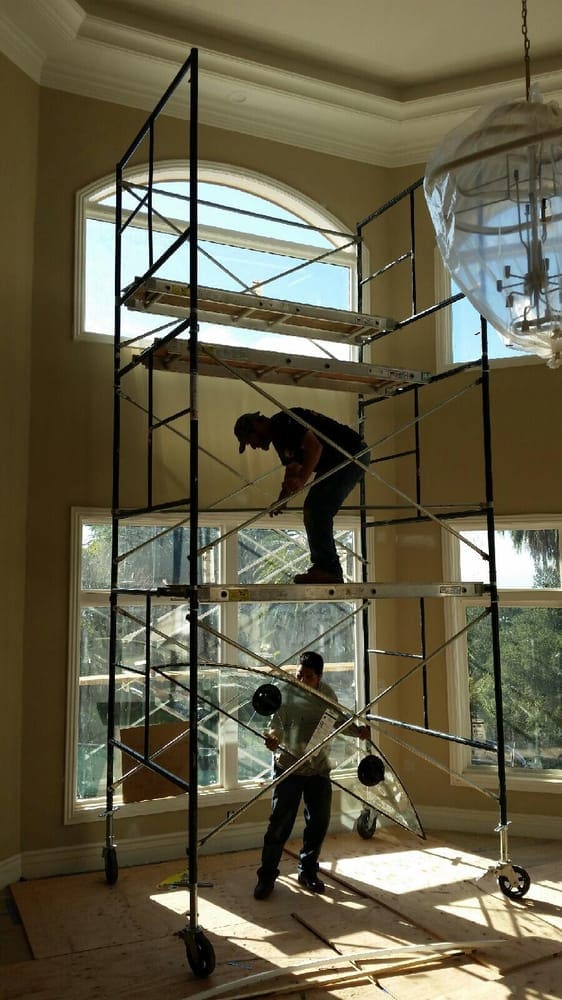
[[[298,842],[288,845],[272,896],[253,898],[259,852],[202,856],[199,922],[216,955],[208,979],[193,976],[177,931],[189,897],[160,883],[182,861],[20,882],[12,893],[32,958],[0,966],[2,1000],[183,1000],[223,987],[234,997],[288,1000],[503,1000],[562,998],[562,852],[528,866],[529,894],[503,896],[489,862],[469,847],[403,831],[327,838],[326,895],[296,881]],[[525,866],[516,856],[515,863]],[[497,844],[496,844],[497,850]],[[398,945],[471,941],[475,950],[296,971],[313,960]],[[491,944],[490,942],[499,942]],[[251,977],[274,972],[273,980]]]

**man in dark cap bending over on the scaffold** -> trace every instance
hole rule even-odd
[[[298,573],[294,582],[343,583],[334,540],[334,517],[369,465],[369,449],[363,438],[346,424],[300,406],[272,417],[265,417],[259,411],[243,413],[234,425],[234,433],[240,454],[247,445],[264,451],[271,444],[275,448],[285,466],[278,502],[304,489],[314,475],[303,505],[312,566],[306,573]],[[346,455],[357,458],[353,461]],[[271,516],[280,514],[285,507],[282,504],[272,510]]]

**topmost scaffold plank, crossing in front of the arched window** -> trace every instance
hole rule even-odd
[[[183,318],[189,315],[189,284],[147,278],[125,297],[127,308]],[[329,309],[301,302],[268,299],[250,292],[229,292],[222,288],[199,288],[197,313],[200,321],[224,323],[249,330],[269,330],[296,337],[316,337],[339,343],[360,344],[373,334],[390,332],[396,320],[370,316],[345,309]]]

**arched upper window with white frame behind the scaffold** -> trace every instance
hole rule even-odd
[[[122,283],[149,268],[146,169],[126,173],[125,218],[136,213],[122,237]],[[356,254],[353,237],[325,210],[288,187],[248,171],[200,165],[199,283],[227,292],[352,309]],[[113,336],[115,181],[104,178],[77,197],[76,317],[78,337]],[[156,164],[152,186],[152,240],[158,259],[189,220],[188,166]],[[187,281],[188,245],[176,249],[155,277]],[[156,322],[162,321],[161,323]],[[122,338],[152,340],[163,317],[123,310]],[[202,323],[200,339],[269,351],[350,358],[344,344]]]

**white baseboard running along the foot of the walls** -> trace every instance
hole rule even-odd
[[[458,830],[467,833],[493,834],[496,832],[498,817],[491,812],[463,809],[446,809],[422,806],[418,813],[424,829],[439,836],[441,830]],[[293,836],[302,832],[302,818],[295,824]],[[381,827],[392,826],[380,817]],[[353,820],[349,815],[332,816],[332,833],[349,832]],[[216,836],[210,837],[200,849],[200,854],[227,854],[261,847],[264,824],[233,824]],[[201,831],[204,837],[205,831]],[[562,839],[562,819],[553,816],[513,815],[510,817],[509,837],[534,837],[546,840]],[[375,833],[376,838],[376,833]],[[143,837],[142,839],[120,840],[116,837],[119,867],[155,864],[159,861],[182,860],[186,858],[185,834]],[[82,844],[78,847],[60,847],[48,851],[26,851],[0,862],[0,886],[10,885],[20,878],[47,878],[53,875],[76,875],[80,872],[104,872],[102,842]]]

